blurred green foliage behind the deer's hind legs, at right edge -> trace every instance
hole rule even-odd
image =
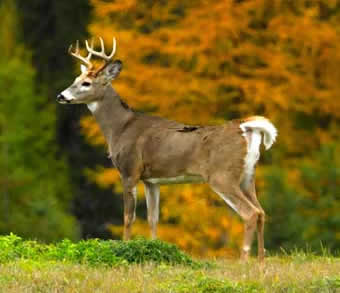
[[[339,147],[323,145],[312,158],[297,162],[295,173],[277,167],[266,171],[267,248],[339,249]]]

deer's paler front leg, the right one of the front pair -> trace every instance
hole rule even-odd
[[[146,205],[148,209],[148,222],[151,229],[151,238],[157,238],[157,223],[159,220],[159,185],[144,182]]]

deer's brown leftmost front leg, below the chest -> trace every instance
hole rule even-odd
[[[124,240],[131,238],[131,226],[136,219],[137,188],[124,185]]]

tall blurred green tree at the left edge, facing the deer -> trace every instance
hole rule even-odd
[[[52,241],[79,237],[67,168],[57,160],[55,116],[34,85],[12,1],[0,5],[0,233]]]

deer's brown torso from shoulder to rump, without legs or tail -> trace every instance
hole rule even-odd
[[[157,117],[158,118],[158,117]],[[246,142],[238,121],[192,126],[155,119],[138,139],[143,177],[201,175],[214,170],[242,172]],[[240,151],[241,150],[241,151]],[[212,170],[213,169],[213,170]]]

